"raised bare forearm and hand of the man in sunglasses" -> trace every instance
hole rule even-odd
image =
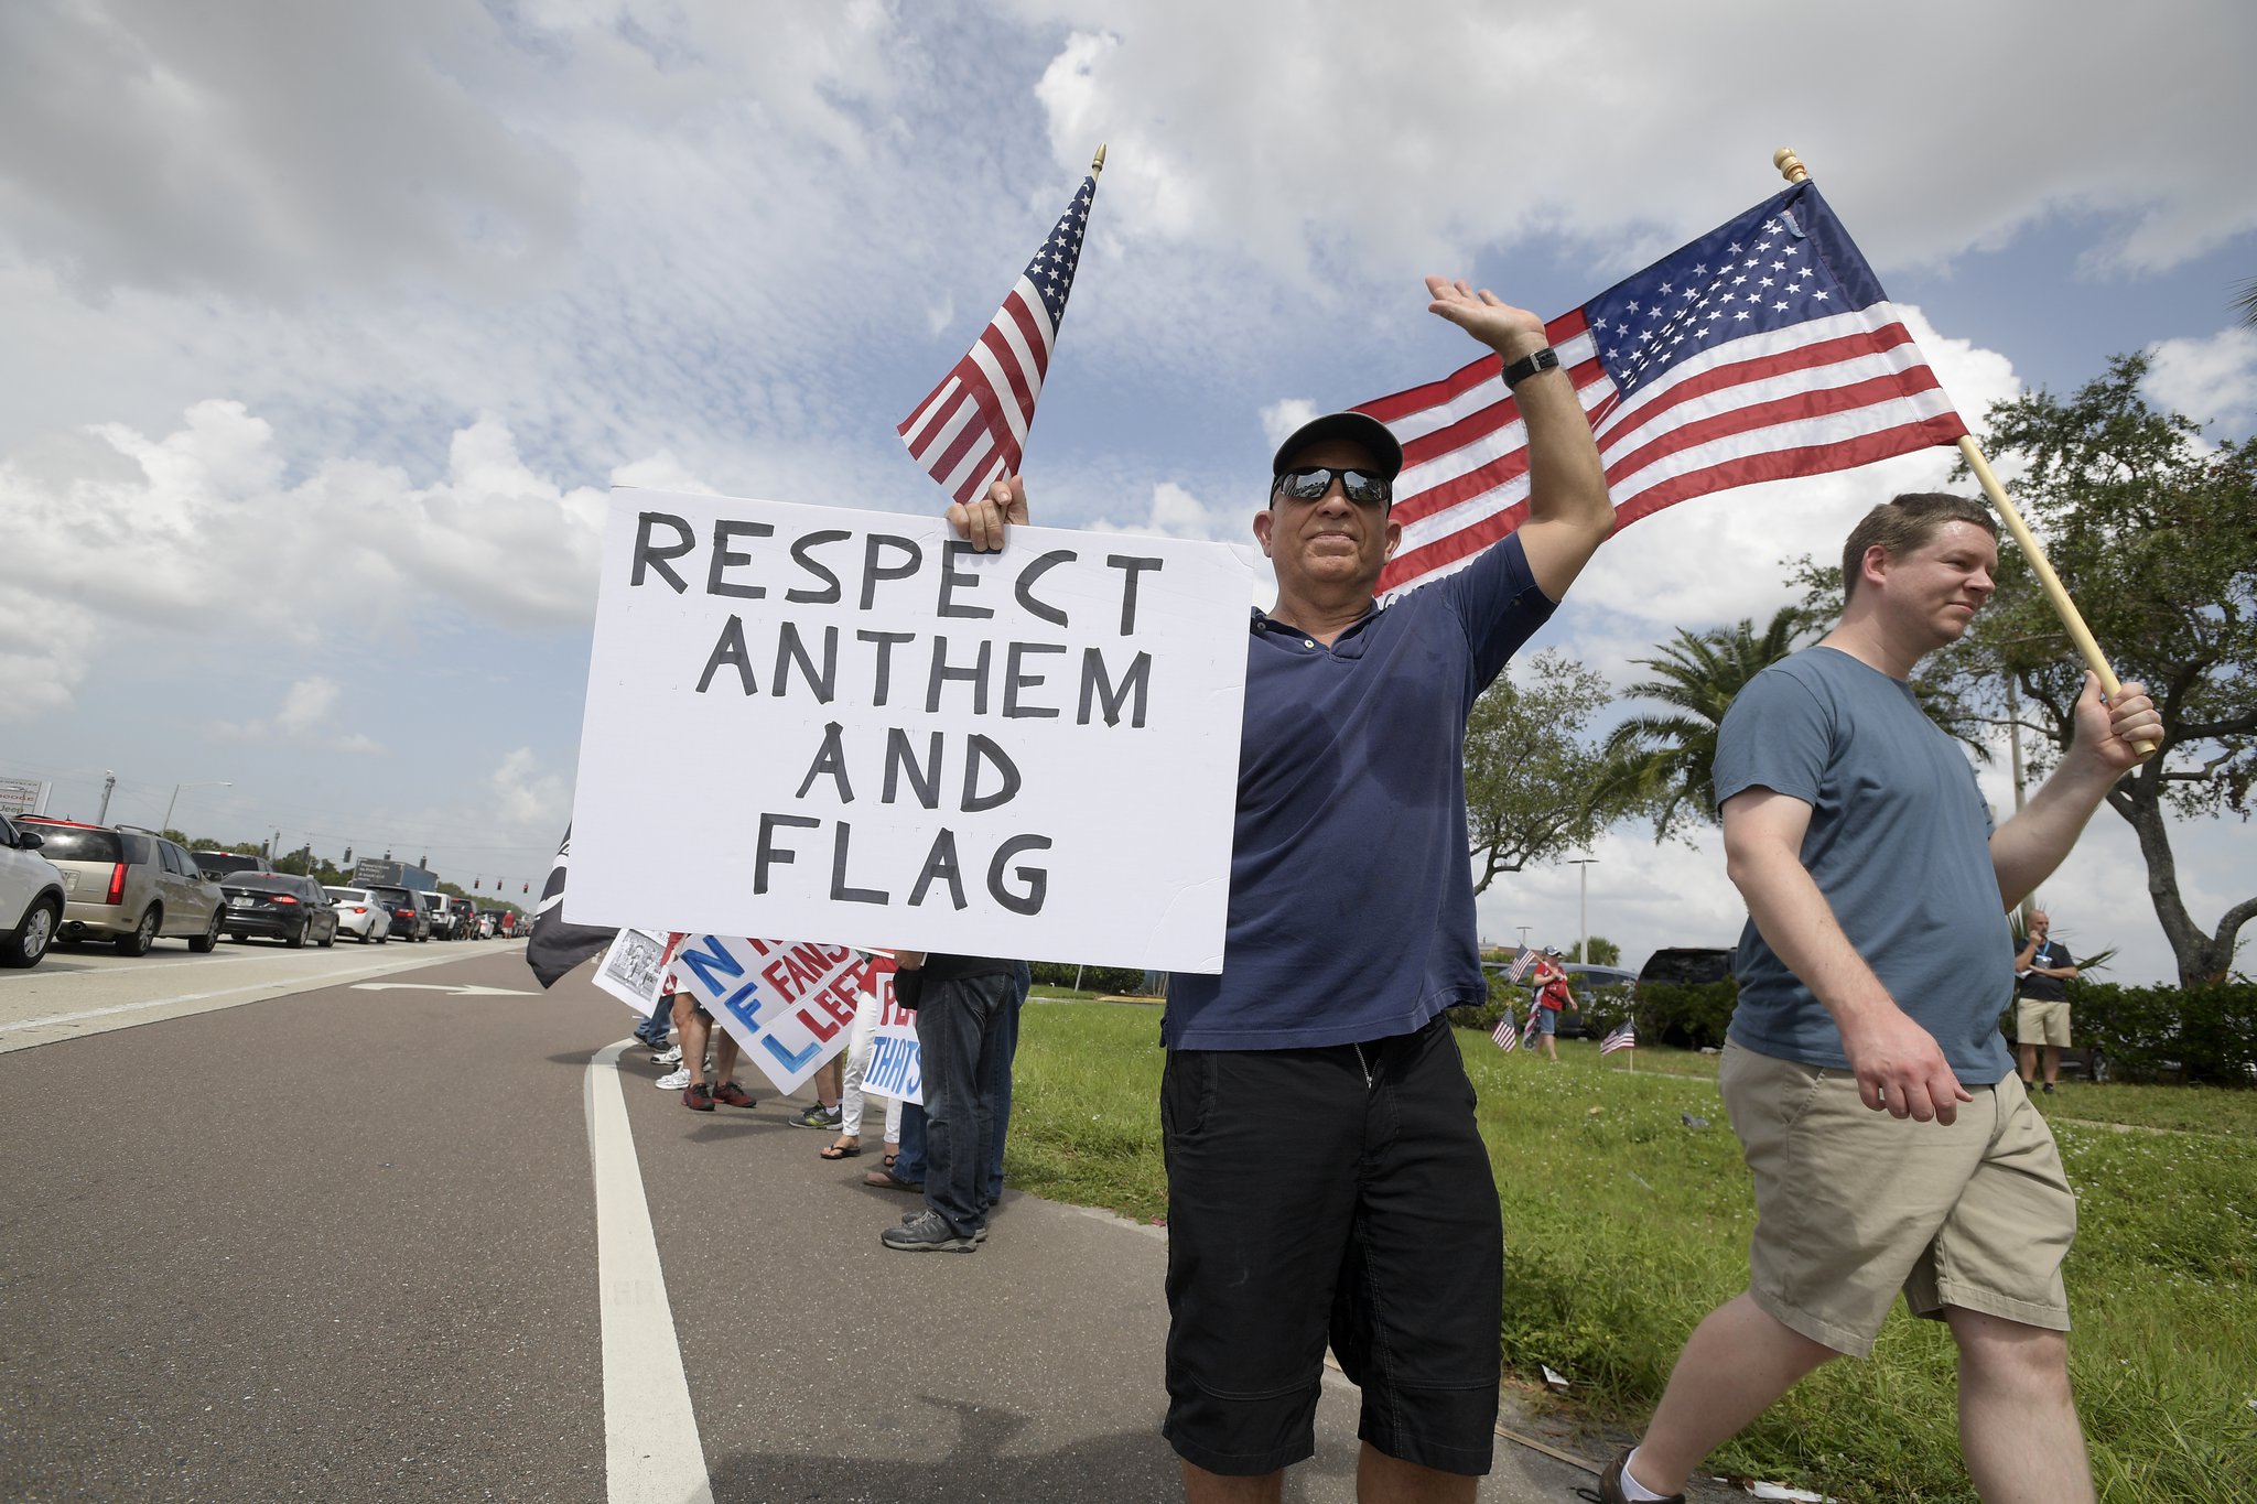
[[[1505,365],[1551,343],[1542,318],[1487,289],[1476,293],[1465,282],[1426,277],[1426,291],[1433,293],[1429,313],[1472,334]],[[1512,401],[1528,426],[1528,521],[1517,532],[1537,589],[1557,602],[1614,532],[1607,467],[1564,365],[1523,379]]]

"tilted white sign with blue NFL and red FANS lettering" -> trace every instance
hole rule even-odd
[[[862,963],[844,945],[693,934],[673,972],[776,1091],[797,1091],[846,1049],[862,1001]]]

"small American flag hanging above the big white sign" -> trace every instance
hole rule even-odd
[[[1065,320],[1065,298],[1074,291],[1081,230],[1095,196],[1092,171],[971,352],[901,419],[910,458],[957,501],[968,503],[991,480],[1018,474],[1034,401],[1043,395],[1050,352]]]

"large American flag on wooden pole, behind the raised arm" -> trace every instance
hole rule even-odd
[[[1598,437],[1616,523],[1756,480],[1955,444],[1966,424],[1873,268],[1797,183],[1546,325]],[[1397,595],[1528,514],[1528,433],[1496,356],[1361,404],[1404,444]]]

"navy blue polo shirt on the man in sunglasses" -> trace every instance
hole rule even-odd
[[[1519,537],[1332,647],[1253,613],[1223,970],[1169,979],[1167,1046],[1386,1039],[1487,999],[1465,722],[1551,613]]]

